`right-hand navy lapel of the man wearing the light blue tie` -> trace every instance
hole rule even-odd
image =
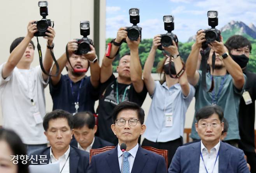
[[[147,152],[145,152],[144,149],[142,149],[139,145],[139,149],[137,151],[131,173],[141,172],[147,162],[147,159]]]

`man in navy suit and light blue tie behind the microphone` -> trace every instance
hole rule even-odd
[[[144,133],[144,110],[136,103],[119,103],[112,114],[111,129],[118,138],[116,148],[97,154],[91,158],[89,173],[166,173],[163,156],[142,149],[138,144],[139,136]],[[121,143],[126,144],[124,153]],[[122,154],[124,156],[122,166]],[[123,171],[121,171],[121,169]]]

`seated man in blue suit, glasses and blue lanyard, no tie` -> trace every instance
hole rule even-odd
[[[201,141],[179,147],[168,173],[249,173],[244,152],[220,141],[224,129],[221,107],[200,109],[195,126]]]

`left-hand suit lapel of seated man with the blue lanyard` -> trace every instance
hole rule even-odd
[[[199,172],[201,142],[195,143],[189,152],[191,172]]]

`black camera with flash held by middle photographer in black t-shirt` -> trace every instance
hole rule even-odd
[[[141,30],[139,26],[137,26],[138,23],[140,23],[140,10],[137,8],[133,8],[129,10],[130,14],[130,23],[133,24],[131,27],[126,27],[127,36],[130,38],[131,41],[138,40],[138,38],[141,38]]]

